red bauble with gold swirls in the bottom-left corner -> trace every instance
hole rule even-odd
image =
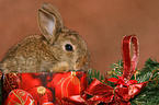
[[[37,103],[26,91],[15,89],[9,93],[4,105],[37,105]]]

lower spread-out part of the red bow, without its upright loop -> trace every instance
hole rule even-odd
[[[64,98],[65,102],[75,105],[98,105],[103,103],[104,105],[129,105],[128,102],[136,94],[145,88],[147,82],[130,84],[129,88],[117,85],[112,88],[106,85],[99,80],[94,79],[82,95],[72,95]],[[88,96],[91,96],[88,98]]]

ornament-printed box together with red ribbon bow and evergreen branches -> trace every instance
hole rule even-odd
[[[130,42],[134,56],[130,57]],[[104,77],[96,70],[3,74],[4,105],[158,105],[159,62],[148,59],[141,70],[136,35],[122,40],[123,60]]]

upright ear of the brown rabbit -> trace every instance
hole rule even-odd
[[[42,34],[53,44],[57,33],[64,28],[63,19],[52,4],[43,3],[38,11],[38,25]]]

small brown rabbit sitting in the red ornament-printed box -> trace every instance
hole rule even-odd
[[[0,63],[4,72],[60,72],[88,66],[86,42],[64,26],[59,12],[49,3],[38,11],[42,35],[32,35],[13,46]]]

